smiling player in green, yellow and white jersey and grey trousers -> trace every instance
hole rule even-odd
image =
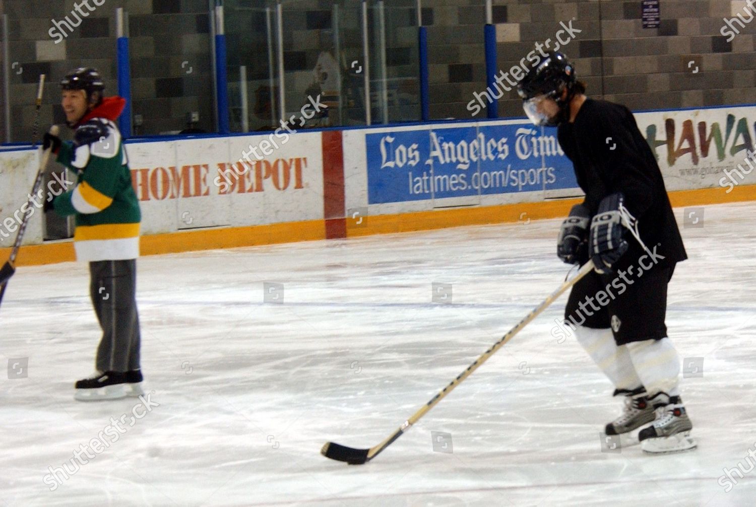
[[[132,187],[121,134],[114,123],[125,107],[121,97],[104,97],[97,70],[79,68],[60,82],[61,104],[73,142],[45,134],[57,162],[78,174],[76,186],[47,211],[76,217],[74,248],[89,263],[90,297],[102,328],[96,372],[76,382],[76,400],[139,396],[140,331],[136,306],[136,259],[141,212]]]

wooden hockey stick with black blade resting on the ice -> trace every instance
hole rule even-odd
[[[580,271],[578,271],[578,274],[575,275],[572,280],[565,280],[565,282],[562,283],[561,286],[559,286],[559,289],[556,289],[556,291],[554,291],[549,297],[544,299],[541,305],[538,305],[538,307],[534,308],[534,310],[531,311],[524,319],[520,320],[519,323],[512,329],[510,329],[506,335],[503,335],[498,342],[494,343],[494,345],[491,345],[491,348],[489,348],[480,357],[478,357],[478,359],[476,359],[474,363],[467,366],[467,369],[465,371],[460,373],[456,379],[452,380],[449,385],[442,389],[442,391],[439,391],[438,394],[432,397],[430,401],[423,405],[420,410],[414,413],[410,419],[404,421],[404,424],[401,425],[398,430],[394,431],[394,433],[392,433],[388,438],[386,438],[385,441],[376,445],[376,447],[370,447],[370,449],[354,449],[352,447],[346,447],[340,444],[335,444],[333,442],[327,442],[321,449],[321,454],[327,458],[336,459],[336,461],[347,462],[349,463],[349,465],[362,465],[363,463],[370,461],[370,459],[378,456],[381,451],[386,449],[386,447],[389,447],[389,445],[391,445],[398,437],[401,437],[401,435],[404,434],[411,427],[411,425],[414,425],[418,420],[420,420],[421,417],[426,415],[429,410],[435,407],[435,405],[439,401],[443,400],[447,394],[449,394],[454,388],[456,388],[457,385],[460,385],[462,381],[469,377],[472,372],[478,369],[480,365],[485,363],[485,361],[488,360],[489,357],[494,355],[494,353],[499,350],[505,343],[509,342],[510,339],[512,339],[514,335],[520,332],[523,327],[527,326],[528,323],[531,322],[531,320],[533,320],[535,317],[538,317],[538,315],[541,314],[542,311],[546,310],[546,308],[548,308],[551,303],[556,301],[556,298],[559,298],[559,296],[562,295],[562,292],[565,292],[565,290],[575,285],[578,280],[587,275],[591,270],[593,270],[593,261],[587,261],[587,263],[583,267],[581,267]]]

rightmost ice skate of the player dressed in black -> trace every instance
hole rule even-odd
[[[696,448],[690,437],[693,425],[679,396],[659,393],[649,399],[653,403],[656,419],[638,434],[640,448],[646,453],[678,453]]]

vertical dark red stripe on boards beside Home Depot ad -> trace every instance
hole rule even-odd
[[[326,238],[346,237],[344,209],[344,150],[341,131],[324,131],[323,139],[323,207]]]

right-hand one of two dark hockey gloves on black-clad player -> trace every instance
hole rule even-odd
[[[627,252],[627,241],[623,239],[625,227],[620,213],[623,201],[621,193],[604,197],[599,211],[590,222],[588,248],[597,273],[612,273],[612,266]]]

